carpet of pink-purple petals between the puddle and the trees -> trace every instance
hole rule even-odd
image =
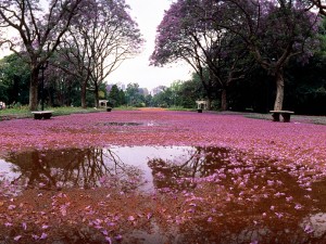
[[[0,121],[0,134],[2,153],[91,145],[198,145],[231,147],[298,165],[324,167],[326,163],[325,126],[241,115],[114,111]]]

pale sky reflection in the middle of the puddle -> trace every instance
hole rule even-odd
[[[113,146],[110,147],[110,151],[116,154],[124,164],[141,169],[148,181],[143,190],[151,190],[153,189],[153,176],[152,170],[148,167],[150,159],[186,162],[189,158],[189,152],[195,151],[195,149],[191,146]]]

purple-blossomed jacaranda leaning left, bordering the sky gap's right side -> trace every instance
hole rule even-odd
[[[198,18],[195,17],[193,10],[195,8],[184,0],[171,5],[158,27],[155,50],[150,59],[151,64],[156,66],[179,60],[186,61],[200,77],[210,102],[213,99],[214,80],[205,74],[204,53],[215,43],[216,38],[202,31],[200,24],[196,25]]]

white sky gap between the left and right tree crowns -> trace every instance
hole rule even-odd
[[[140,88],[149,90],[158,86],[170,86],[175,80],[188,80],[190,66],[185,63],[167,64],[164,67],[150,66],[149,57],[154,50],[156,27],[161,23],[164,10],[168,10],[171,0],[126,0],[130,5],[130,16],[138,23],[146,39],[143,51],[131,60],[126,60],[109,77],[109,84],[137,82]]]

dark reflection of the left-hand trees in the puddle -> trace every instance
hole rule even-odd
[[[133,190],[141,184],[141,170],[122,162],[106,149],[67,149],[60,151],[33,151],[10,154],[12,172],[27,188],[62,189],[114,187]],[[9,172],[9,176],[12,174]]]

